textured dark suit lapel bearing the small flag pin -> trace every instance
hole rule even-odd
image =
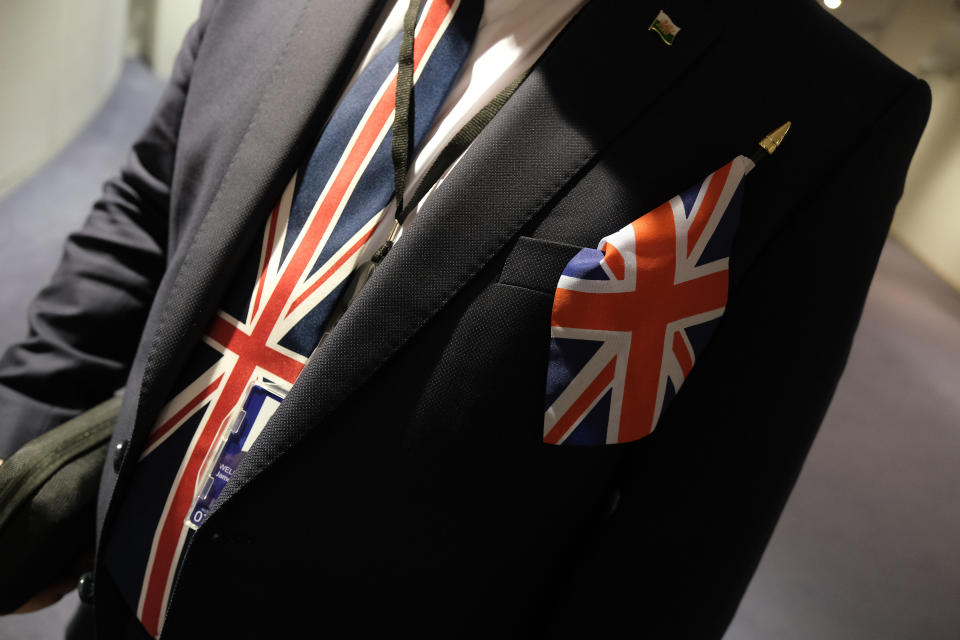
[[[704,3],[675,2],[669,13],[683,31],[667,46],[645,31],[659,5],[623,4],[594,0],[556,39],[313,354],[220,503],[363,384],[718,32]]]

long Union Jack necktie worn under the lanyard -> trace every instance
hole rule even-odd
[[[414,38],[412,148],[422,142],[476,34],[483,3],[428,0]],[[358,76],[270,212],[246,268],[151,432],[106,547],[111,577],[159,635],[193,530],[185,519],[221,424],[254,381],[292,385],[394,192],[398,35]]]

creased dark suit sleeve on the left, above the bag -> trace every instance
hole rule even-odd
[[[204,2],[146,130],[31,302],[27,337],[0,358],[0,459],[124,385],[166,265],[180,118],[213,6]]]

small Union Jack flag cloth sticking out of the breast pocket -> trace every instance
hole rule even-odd
[[[653,431],[723,315],[752,168],[737,156],[570,260],[553,299],[545,443],[616,444]]]

